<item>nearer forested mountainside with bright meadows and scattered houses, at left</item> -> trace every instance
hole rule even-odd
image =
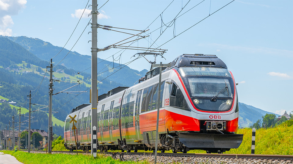
[[[27,95],[31,91],[31,103],[33,104],[48,104],[48,74],[45,76],[46,66],[48,62],[39,59],[33,53],[27,51],[19,44],[0,36],[0,96],[4,97],[8,102],[16,102],[15,106],[24,106],[28,108]],[[56,66],[53,68],[54,79],[64,78],[67,82],[77,82],[84,77],[90,77],[88,73],[77,74],[72,69],[67,69],[64,66]],[[99,76],[98,80],[104,77]],[[58,135],[63,135],[63,126],[60,120],[65,120],[67,114],[76,106],[80,104],[89,103],[89,93],[83,93],[90,88],[90,80],[81,80],[83,83],[71,88],[68,91],[81,91],[81,94],[65,94],[60,93],[53,96],[53,111],[58,113],[54,114],[56,123],[53,127],[53,132]],[[41,83],[42,82],[42,83]],[[39,84],[41,85],[39,86]],[[70,84],[70,83],[69,83]],[[73,86],[65,82],[54,81],[54,92],[62,91],[68,87]],[[103,94],[113,89],[114,87],[123,86],[123,84],[103,80],[103,83],[98,84],[99,93]],[[39,88],[39,89],[38,89]],[[75,98],[77,97],[77,98]],[[41,106],[42,107],[42,106]],[[31,105],[31,111],[41,108],[39,105]],[[11,120],[13,115],[17,115],[17,108],[10,106],[7,102],[0,103],[0,129],[4,129],[5,124]],[[48,108],[43,109],[48,111]],[[48,127],[48,116],[43,111],[32,112],[37,123],[31,125],[31,128],[46,130]],[[23,113],[22,113],[23,114]],[[24,115],[28,115],[25,113]],[[24,121],[27,118],[22,118]],[[59,121],[57,120],[59,119]],[[61,125],[61,126],[60,126]]]

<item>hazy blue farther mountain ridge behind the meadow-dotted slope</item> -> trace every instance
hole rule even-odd
[[[29,38],[26,36],[7,38],[23,46],[26,50],[45,61],[49,61],[62,49],[62,47],[53,46],[51,43],[45,42],[38,38]],[[67,55],[68,52],[69,50],[63,49],[56,57],[54,57],[53,61],[55,61],[55,63],[58,63],[63,59],[64,56]],[[117,61],[118,59],[115,60]],[[110,62],[98,58],[97,63],[98,73],[100,72],[98,76],[102,77],[107,77],[112,73],[118,71],[121,67],[125,66],[123,64],[114,63],[114,59],[113,62]],[[89,67],[91,67],[91,56],[81,55],[80,53],[73,51],[68,53],[67,57],[62,60],[60,65],[65,66],[68,69],[73,69],[76,72],[81,72],[85,70],[86,73],[90,74],[91,69],[89,69]],[[119,81],[119,83],[123,84],[124,86],[132,86],[137,80],[143,77],[146,72],[147,70],[138,71],[131,69],[128,66],[125,66],[122,71],[115,73],[115,76],[109,76],[107,79],[110,81]]]

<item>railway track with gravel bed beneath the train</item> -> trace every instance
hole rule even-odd
[[[31,151],[31,152],[46,152],[42,150]],[[54,153],[68,153],[75,154],[76,152],[70,151],[52,151]],[[78,153],[86,153],[86,152],[78,152]],[[111,155],[112,158],[123,160],[131,160],[134,159],[130,156],[139,155],[139,156],[154,156],[153,152],[100,152],[102,154]],[[201,157],[201,158],[225,158],[225,159],[257,159],[260,161],[288,161],[289,163],[293,163],[293,155],[262,155],[262,154],[194,154],[194,153],[157,153],[158,156],[161,157]],[[125,158],[125,157],[128,158]],[[130,157],[130,158],[129,158]]]

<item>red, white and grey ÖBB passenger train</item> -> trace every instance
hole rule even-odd
[[[222,153],[240,146],[237,83],[222,60],[215,55],[183,54],[162,72],[161,84],[158,69],[132,87],[99,96],[97,120],[91,120],[90,104],[73,109],[65,122],[65,147],[76,149],[69,116],[77,115],[78,149],[90,150],[91,122],[97,121],[101,151],[154,150],[158,105],[161,152]]]

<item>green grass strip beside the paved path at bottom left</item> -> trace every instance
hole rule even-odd
[[[5,154],[13,155],[18,161],[24,164],[147,164],[147,161],[132,162],[132,161],[118,161],[111,157],[106,157],[102,154],[97,154],[94,158],[89,154],[42,154],[42,153],[27,153],[21,151],[7,151],[3,150]]]

